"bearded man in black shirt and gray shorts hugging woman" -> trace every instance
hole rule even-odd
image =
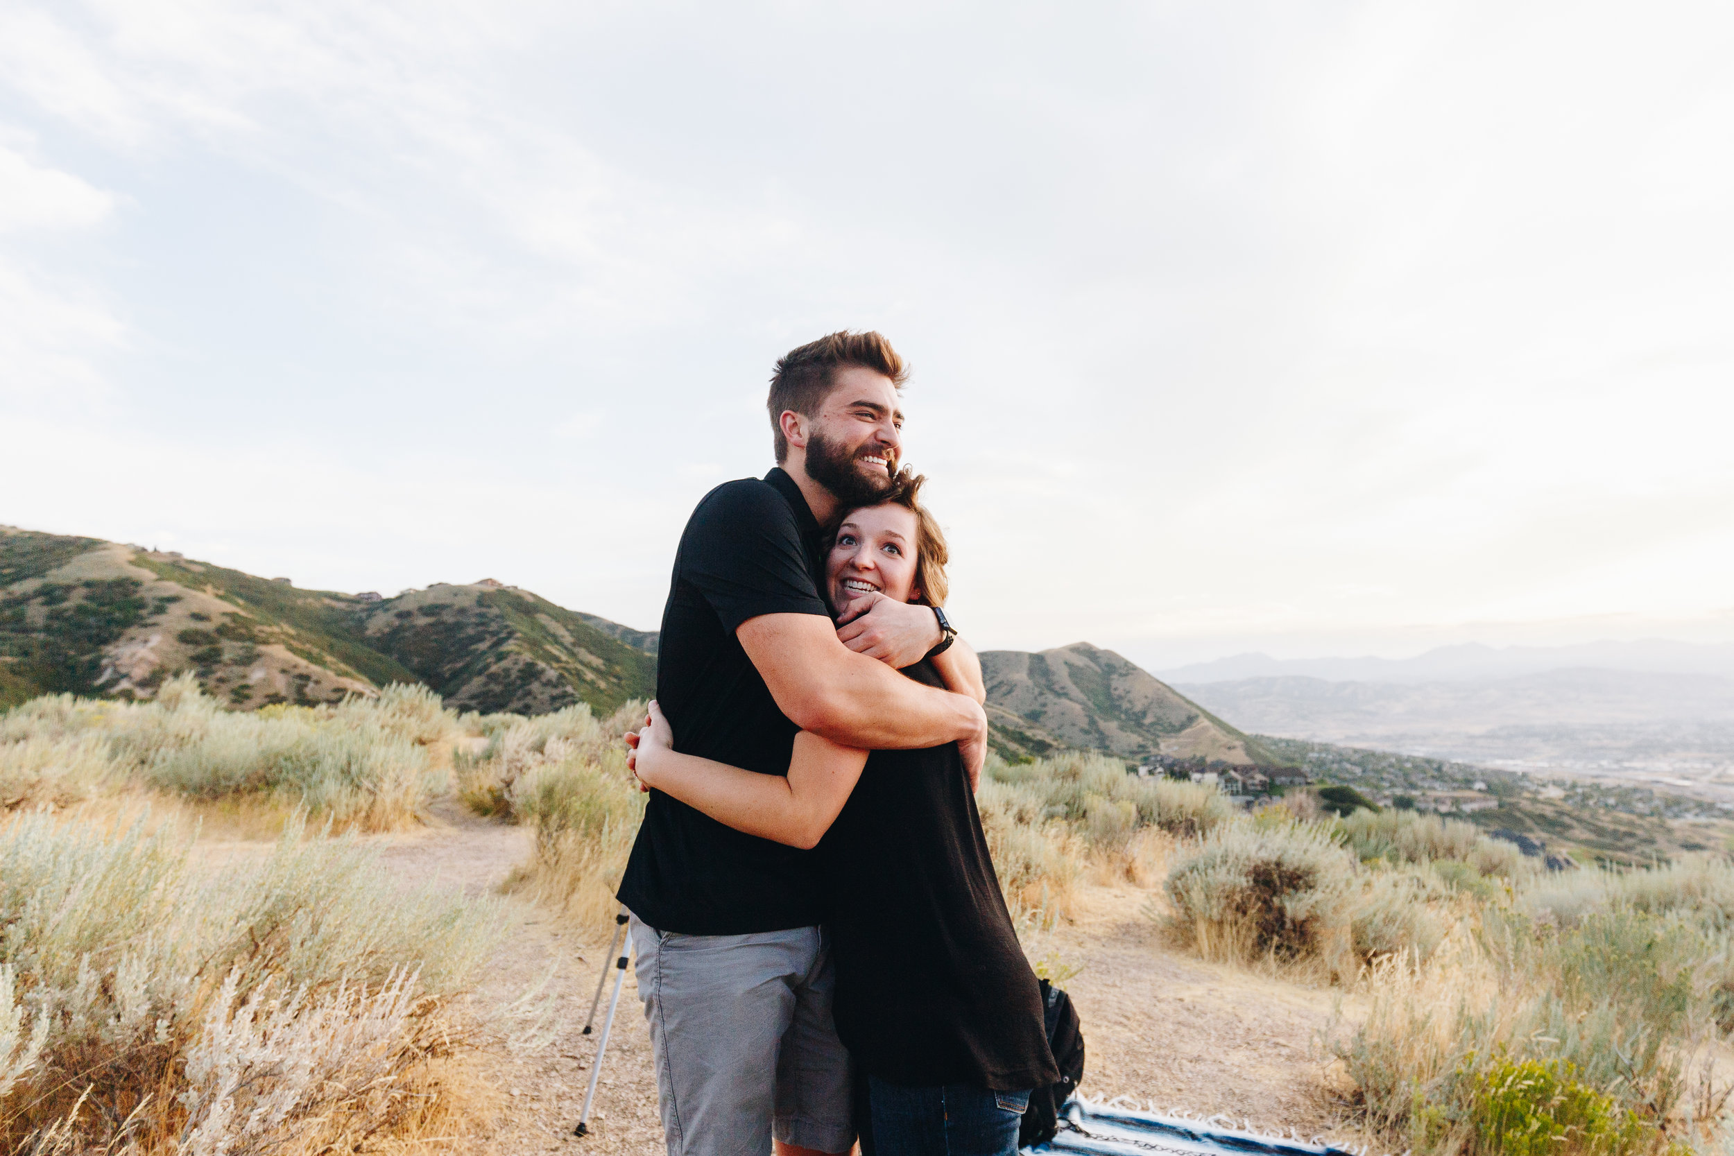
[[[905,378],[877,333],[832,333],[777,362],[779,466],[706,494],[675,555],[657,700],[678,750],[784,775],[808,730],[869,750],[959,742],[980,773],[980,704],[895,669],[940,646],[948,624],[869,598],[839,626],[820,598],[824,523],[896,477]],[[619,899],[669,1156],[765,1156],[773,1137],[805,1156],[855,1140],[806,854],[650,796]]]

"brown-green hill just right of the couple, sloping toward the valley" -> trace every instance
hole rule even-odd
[[[1073,643],[1040,653],[981,655],[987,695],[1040,742],[1105,750],[1127,759],[1157,754],[1273,766],[1278,759],[1198,704],[1111,650]],[[1030,749],[1030,754],[1046,750]]]

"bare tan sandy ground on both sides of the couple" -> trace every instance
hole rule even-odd
[[[439,806],[427,830],[378,842],[385,863],[406,882],[437,877],[472,894],[494,889],[531,849],[525,830],[475,818],[454,804]],[[1150,899],[1151,893],[1138,887],[1089,887],[1075,922],[1049,938],[1068,964],[1082,969],[1063,986],[1084,1019],[1084,1092],[1200,1116],[1221,1113],[1236,1127],[1248,1121],[1266,1132],[1333,1132],[1337,1111],[1316,1057],[1332,993],[1167,951],[1144,913]],[[484,1024],[472,1054],[484,1085],[477,1102],[494,1107],[451,1151],[662,1151],[650,1040],[631,969],[609,1038],[591,1135],[576,1139],[572,1125],[596,1040],[581,1029],[607,945],[576,936],[529,903],[506,905],[510,934],[470,997]],[[544,1021],[551,1040],[513,1052],[506,1038],[524,1021],[512,1021],[510,1009],[550,969],[553,977],[538,1002],[551,1012]]]

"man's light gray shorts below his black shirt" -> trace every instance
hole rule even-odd
[[[855,1144],[829,936],[683,936],[636,915],[631,936],[669,1156],[766,1156],[772,1135]]]

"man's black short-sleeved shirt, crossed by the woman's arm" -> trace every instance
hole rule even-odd
[[[796,724],[735,629],[761,614],[825,614],[820,527],[782,470],[704,496],[680,536],[662,610],[655,697],[675,749],[787,775]],[[758,839],[650,792],[619,899],[659,931],[737,936],[820,920],[812,853]]]

